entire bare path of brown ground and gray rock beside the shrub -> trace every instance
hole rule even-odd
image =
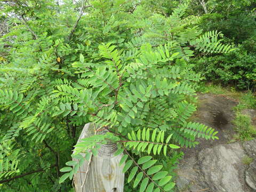
[[[219,140],[199,140],[196,148],[183,149],[185,157],[177,170],[178,191],[256,191],[256,139],[243,144],[229,143],[235,133],[231,121],[237,103],[211,94],[199,95],[199,100],[195,121],[219,131]],[[255,111],[249,112],[253,115]],[[243,163],[245,156],[254,159],[250,166]]]

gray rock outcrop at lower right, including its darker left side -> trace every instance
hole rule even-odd
[[[244,181],[244,156],[244,149],[238,142],[199,151],[198,160],[191,157],[186,159],[188,163],[180,165],[177,186],[180,191],[193,192],[251,191]]]

